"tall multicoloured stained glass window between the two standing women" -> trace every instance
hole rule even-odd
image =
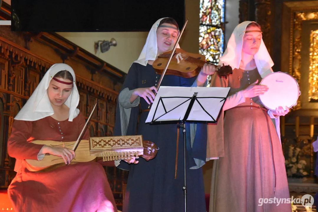
[[[200,0],[199,53],[218,64],[223,54],[225,0]]]

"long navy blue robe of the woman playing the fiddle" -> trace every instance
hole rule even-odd
[[[148,109],[148,103],[139,97],[132,104],[129,102],[134,89],[155,86],[160,77],[161,75],[156,74],[151,65],[143,66],[133,63],[122,87],[124,92],[119,95],[114,135],[142,135],[143,140],[150,140],[160,148],[153,160],[145,161],[140,158],[138,164],[120,162],[118,168],[129,170],[123,212],[184,211],[182,128],[179,133],[177,178],[175,179],[177,124],[146,124],[145,120],[149,112],[142,112],[137,129],[139,101],[142,110]],[[196,77],[185,79],[173,75],[165,75],[161,85],[197,86]],[[123,93],[126,97],[121,96]],[[128,109],[129,107],[131,109]],[[190,131],[193,133],[190,134]],[[186,133],[187,211],[206,212],[202,173],[202,165],[206,160],[206,125],[186,124]]]

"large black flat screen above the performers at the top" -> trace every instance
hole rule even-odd
[[[11,31],[149,31],[162,17],[182,29],[185,0],[11,0]]]

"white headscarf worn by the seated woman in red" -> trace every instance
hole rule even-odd
[[[68,120],[73,121],[73,119],[77,117],[79,114],[79,109],[76,107],[79,104],[79,92],[76,87],[75,73],[71,66],[64,63],[58,63],[52,65],[51,68],[47,70],[43,79],[32,93],[30,99],[28,99],[17,116],[14,118],[15,120],[36,121],[54,114],[50,99],[47,94],[47,88],[49,87],[50,81],[54,75],[63,70],[70,72],[73,76],[73,89],[71,95],[65,102],[65,105],[70,108]]]

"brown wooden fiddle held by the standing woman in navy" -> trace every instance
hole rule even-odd
[[[168,58],[171,55],[171,51],[165,52],[158,56],[158,58],[152,64],[152,67],[156,70],[157,74],[162,74],[164,68],[168,62]],[[197,76],[201,68],[206,63],[205,57],[202,54],[194,54],[177,48],[173,53],[173,57],[169,63],[167,75],[175,75],[183,78],[192,78]],[[232,68],[229,65],[216,66],[217,73],[220,77],[227,77],[232,74]]]

